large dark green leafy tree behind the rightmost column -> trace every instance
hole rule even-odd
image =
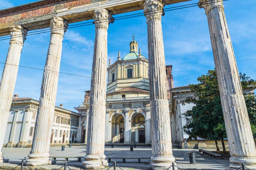
[[[243,88],[255,83],[245,74],[240,73],[240,78]],[[226,130],[216,71],[208,70],[206,75],[198,77],[198,81],[199,84],[197,85],[189,85],[190,89],[195,92],[195,97],[189,97],[183,102],[183,104],[195,104],[192,110],[184,114],[187,117],[187,124],[183,127],[183,130],[189,135],[190,139],[215,140],[217,150],[219,150],[217,140],[221,140],[225,151],[224,138],[226,138]],[[256,135],[255,96],[245,96],[245,101],[253,134]]]

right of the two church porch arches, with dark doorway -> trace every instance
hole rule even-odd
[[[142,113],[131,115],[131,131],[132,143],[145,143],[145,116]]]

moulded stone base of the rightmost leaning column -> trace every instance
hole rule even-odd
[[[250,170],[256,170],[256,157],[236,157],[231,156],[229,158],[229,168],[230,170],[237,170],[242,166],[242,163],[245,164]]]

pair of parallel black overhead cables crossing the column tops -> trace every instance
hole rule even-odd
[[[214,1],[214,0],[205,1],[205,2],[208,2],[208,3],[201,3],[200,5],[210,4],[210,3],[212,3],[211,1]],[[216,2],[223,2],[223,1],[227,1],[227,0],[220,0],[220,1],[216,1]],[[194,5],[194,4],[197,4],[197,5]],[[193,5],[193,6],[188,6],[188,5]],[[184,6],[188,6],[188,7],[184,7]],[[163,10],[154,10],[154,11],[166,12],[166,11],[172,11],[172,10],[177,10],[177,9],[196,7],[196,6],[198,6],[198,3],[193,3],[193,4],[187,4],[187,5],[177,6],[177,7],[182,7],[182,8],[170,7],[170,8],[165,8],[165,9],[169,9],[169,10],[163,9]],[[171,9],[171,8],[175,8],[175,9]],[[130,14],[130,15],[124,15],[124,16],[116,17],[116,18],[119,18],[119,19],[115,19],[114,21],[122,20],[122,19],[127,19],[127,18],[139,17],[139,16],[143,16],[143,15],[145,15],[145,14],[159,13],[159,12],[154,12],[154,11],[150,11],[150,12],[141,12],[141,13]],[[138,15],[138,14],[142,14],[142,15]],[[135,15],[135,16],[133,16],[133,15]],[[126,16],[127,16],[127,17],[126,17]],[[124,17],[124,18],[122,18],[122,17]],[[107,20],[107,21],[105,21],[105,20]],[[98,21],[97,21],[97,23],[109,22],[108,19],[105,19],[105,20],[99,20],[99,21],[103,21],[103,22],[98,22]],[[86,24],[86,23],[89,23],[89,24]],[[86,25],[93,25],[93,24],[95,24],[95,21],[86,22],[86,23],[73,24],[73,25],[68,26],[67,29],[69,29],[69,28],[81,27],[81,26],[86,26]],[[82,24],[83,24],[83,25],[82,25]],[[79,25],[79,26],[74,26],[74,25]],[[58,29],[58,28],[61,28],[61,29]],[[58,27],[58,28],[55,28],[55,29],[45,29],[45,30],[40,30],[40,31],[33,31],[33,32],[28,33],[29,35],[27,35],[27,36],[36,35],[36,34],[41,34],[41,33],[47,33],[47,32],[51,32],[51,31],[62,30],[62,28],[64,28],[64,27]],[[50,30],[50,31],[47,31],[47,30]],[[32,34],[32,33],[35,33],[35,34]],[[7,39],[22,37],[22,36],[19,36],[19,35],[22,35],[22,34],[18,34],[18,35],[15,35],[15,36],[9,35],[9,36],[5,36],[5,37],[0,37],[0,41],[1,41],[1,40],[6,40],[6,39],[3,39],[3,38],[7,38],[7,37],[10,37],[10,38],[7,38]]]

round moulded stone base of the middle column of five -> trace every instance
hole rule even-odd
[[[99,169],[108,166],[108,161],[105,160],[106,156],[103,155],[85,155],[85,161],[82,162],[82,166],[86,169]]]

